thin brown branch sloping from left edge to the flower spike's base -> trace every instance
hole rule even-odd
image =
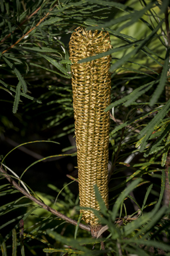
[[[27,193],[27,191],[25,191],[25,189],[23,189],[23,187],[21,187],[20,185],[18,185],[9,175],[8,173],[0,166],[0,173],[2,173],[2,175],[17,189],[19,190],[21,193],[23,193],[23,195],[25,195],[25,197],[31,199],[32,201],[34,201],[35,203],[37,203],[37,205],[41,205],[42,208],[46,209],[46,211],[50,211],[50,213],[60,217],[61,219],[64,219],[64,221],[67,221],[68,223],[71,223],[72,225],[77,225],[77,221],[74,221],[73,219],[70,219],[69,217],[66,217],[66,215],[60,213],[59,211],[56,211],[54,209],[52,209],[51,207],[49,207],[48,205],[45,205],[44,203],[42,203],[39,199],[33,197],[33,195],[29,195],[29,193]],[[79,224],[79,226],[81,229],[84,229],[86,231],[90,232],[90,227],[86,226],[82,223]]]

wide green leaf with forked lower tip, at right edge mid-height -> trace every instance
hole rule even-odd
[[[139,139],[141,137],[143,137],[143,135],[145,135],[145,138],[143,139],[143,141],[141,143],[141,147],[139,149],[140,152],[142,152],[145,149],[147,139],[149,139],[149,136],[151,135],[151,133],[155,129],[155,126],[158,125],[163,120],[163,117],[165,117],[165,115],[169,111],[169,107],[170,107],[170,99],[162,107],[162,109],[159,110],[159,113],[157,113],[157,115],[155,115],[155,117],[153,117],[153,119],[148,123],[148,125],[141,131],[141,133],[139,135]]]

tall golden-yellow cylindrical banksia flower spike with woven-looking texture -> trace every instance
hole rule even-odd
[[[72,33],[69,46],[80,206],[99,210],[94,184],[98,186],[100,195],[108,207],[110,116],[104,109],[110,104],[111,56],[81,64],[78,61],[108,51],[111,48],[110,35],[106,31],[86,31],[78,27],[76,32]],[[99,224],[92,211],[82,212],[86,223],[91,226]]]

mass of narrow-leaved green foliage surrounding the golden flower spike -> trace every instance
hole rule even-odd
[[[79,61],[112,54],[112,103],[105,109],[111,118],[110,208],[106,209],[95,187],[100,212],[91,209],[104,225],[103,237],[92,239],[80,229],[78,196],[69,189],[78,179],[64,183],[62,189],[48,184],[52,195],[35,192],[21,181],[28,169],[44,160],[76,155],[68,153],[74,145],[63,145],[64,154],[46,153],[47,157],[28,163],[20,178],[8,167],[12,149],[0,156],[10,177],[78,223],[74,227],[26,197],[20,198],[1,175],[2,255],[170,255],[170,209],[163,205],[170,183],[169,1],[2,0],[0,8],[2,137],[8,131],[22,137],[33,116],[41,120],[37,133],[50,131],[49,142],[57,144],[55,140],[72,135],[70,35],[79,26],[104,29],[112,43],[110,51]]]

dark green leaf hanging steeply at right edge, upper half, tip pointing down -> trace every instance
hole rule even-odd
[[[167,81],[168,65],[169,65],[169,53],[170,53],[170,49],[167,50],[167,53],[165,56],[165,63],[163,65],[163,70],[161,72],[161,78],[159,80],[159,85],[157,85],[157,89],[155,89],[155,91],[151,97],[151,100],[150,100],[151,107],[155,104],[155,102],[157,102],[157,99],[160,97],[160,95],[163,92],[163,89],[165,87],[165,84]]]

